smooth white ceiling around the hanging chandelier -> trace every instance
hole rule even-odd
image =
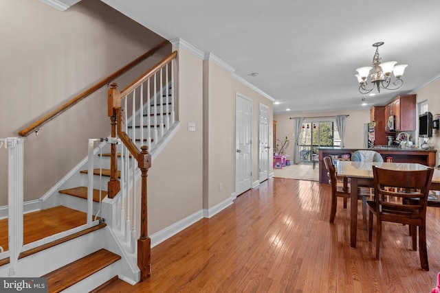
[[[214,54],[280,102],[275,114],[362,108],[355,69],[371,65],[379,41],[383,62],[408,67],[400,89],[366,95],[366,107],[440,73],[440,0],[102,1],[168,40]]]

